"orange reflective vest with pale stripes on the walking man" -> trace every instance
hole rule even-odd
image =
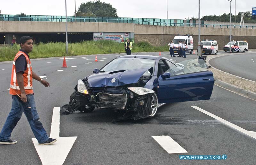
[[[28,58],[28,55],[22,51],[19,51],[13,60],[12,63],[12,77],[11,77],[11,86],[10,86],[10,94],[11,95],[21,95],[20,87],[17,82],[17,77],[16,77],[16,68],[15,68],[15,61],[20,57],[20,55],[24,55],[27,60],[27,69],[24,71],[23,74],[23,83],[24,83],[24,88],[26,95],[28,94],[33,94],[33,87],[32,87],[32,66],[31,62]]]

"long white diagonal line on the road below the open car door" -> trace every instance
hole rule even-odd
[[[204,114],[206,114],[206,115],[208,115],[208,116],[211,116],[212,118],[215,118],[216,120],[219,120],[221,123],[223,123],[223,124],[225,124],[225,125],[227,125],[227,126],[233,128],[233,129],[235,129],[235,130],[237,130],[237,131],[239,131],[239,132],[241,132],[241,133],[244,133],[244,134],[246,134],[246,135],[248,135],[248,136],[251,136],[252,138],[256,139],[256,132],[254,132],[254,131],[247,131],[247,130],[245,130],[244,128],[241,128],[241,127],[239,127],[239,126],[236,126],[235,124],[230,123],[230,122],[228,122],[227,120],[224,120],[223,118],[220,118],[220,117],[218,117],[218,116],[216,116],[216,115],[214,115],[214,114],[212,114],[212,113],[210,113],[210,112],[208,112],[208,111],[205,111],[205,110],[203,110],[202,108],[199,108],[199,107],[197,107],[197,106],[195,106],[195,105],[191,105],[191,107],[192,107],[192,108],[195,108],[195,109],[198,110],[198,111],[203,112]]]

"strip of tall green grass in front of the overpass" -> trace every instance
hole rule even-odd
[[[0,61],[12,61],[19,49],[20,45],[0,47]],[[168,50],[168,46],[153,47],[148,42],[139,42],[133,44],[132,52],[162,52]],[[109,53],[125,53],[124,44],[109,40],[83,41],[68,44],[68,55]],[[31,59],[64,56],[66,55],[66,43],[38,43],[34,45],[33,51],[29,55]]]

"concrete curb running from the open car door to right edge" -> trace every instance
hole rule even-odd
[[[219,85],[219,86],[221,86],[221,87],[223,87],[223,88],[225,88],[225,89],[231,90],[232,92],[235,92],[235,93],[237,93],[239,95],[242,95],[244,97],[249,97],[249,98],[251,98],[253,100],[256,100],[256,93],[254,93],[254,92],[250,92],[248,90],[244,90],[242,88],[238,88],[238,87],[236,87],[234,85],[225,83],[225,82],[220,81],[220,80],[218,80],[216,78],[214,78],[214,83]]]

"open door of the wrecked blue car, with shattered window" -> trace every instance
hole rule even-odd
[[[162,69],[158,71],[159,103],[210,99],[214,83],[213,73],[198,59],[187,61],[184,66],[182,70],[182,66],[170,61],[159,61],[158,69]]]

